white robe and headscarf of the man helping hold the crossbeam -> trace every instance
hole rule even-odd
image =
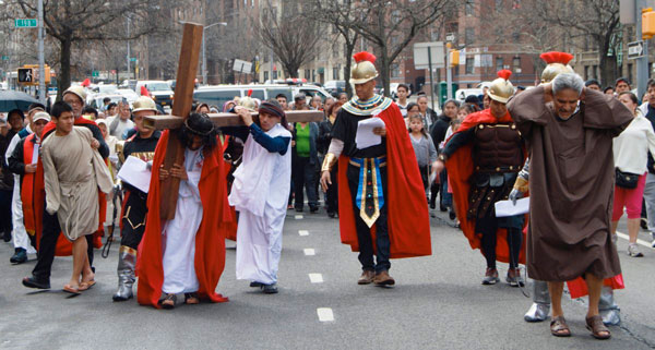
[[[291,137],[276,124],[266,134]],[[237,279],[277,282],[282,230],[291,182],[290,143],[283,155],[271,153],[252,135],[243,146],[243,162],[235,171],[229,204],[239,212]]]

